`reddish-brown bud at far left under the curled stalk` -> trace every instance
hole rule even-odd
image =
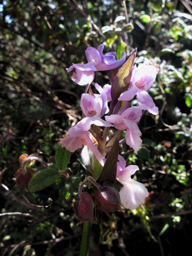
[[[32,168],[28,168],[26,171],[19,169],[16,171],[14,176],[16,177],[16,182],[22,189],[28,189],[28,184],[36,175],[36,172]]]

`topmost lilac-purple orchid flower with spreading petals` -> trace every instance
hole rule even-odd
[[[94,71],[105,71],[115,69],[125,62],[126,53],[122,52],[122,57],[118,61],[116,60],[116,52],[110,52],[102,55],[104,45],[101,44],[97,49],[88,47],[85,50],[85,54],[88,60],[86,64],[74,64],[67,68],[67,72],[73,72],[71,79],[78,85],[90,85],[94,79]]]

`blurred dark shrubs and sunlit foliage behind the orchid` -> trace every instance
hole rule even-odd
[[[150,89],[159,115],[140,122],[142,147],[121,146],[137,180],[150,192],[125,214],[100,212],[91,255],[189,255],[192,228],[192,2],[190,0],[0,1],[0,249],[1,255],[79,255],[82,221],[63,180],[38,193],[20,189],[14,173],[21,154],[55,154],[81,118],[84,86],[65,68],[86,63],[85,49],[114,45],[117,58],[137,47],[136,63],[157,67]],[[97,72],[95,82],[109,83]],[[134,101],[133,101],[134,104]],[[86,171],[71,156],[67,172]],[[36,165],[38,168],[38,165]],[[136,178],[136,177],[135,177]],[[117,185],[117,188],[120,186]],[[51,199],[49,199],[51,198]],[[4,213],[31,216],[3,216]],[[33,216],[32,216],[33,215]]]

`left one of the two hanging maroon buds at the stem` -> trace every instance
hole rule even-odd
[[[93,224],[98,223],[95,216],[95,203],[93,201],[93,197],[88,193],[81,193],[80,201],[74,202],[73,209],[74,213],[80,220],[89,220]]]

